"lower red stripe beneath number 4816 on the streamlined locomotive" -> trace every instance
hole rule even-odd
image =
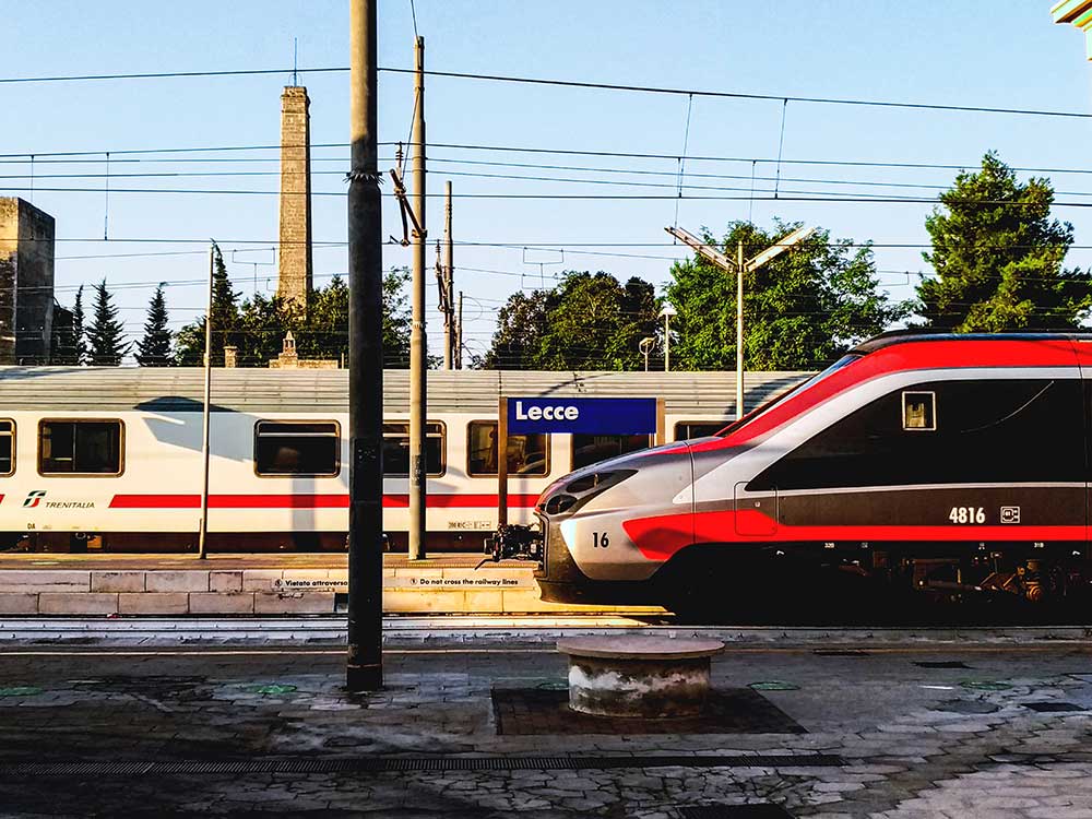
[[[1084,526],[785,526],[769,535],[740,535],[736,512],[668,514],[626,521],[622,529],[649,560],[666,560],[691,543],[794,543],[798,541],[1084,541]],[[770,518],[755,510],[738,513],[746,531],[773,530]]]

